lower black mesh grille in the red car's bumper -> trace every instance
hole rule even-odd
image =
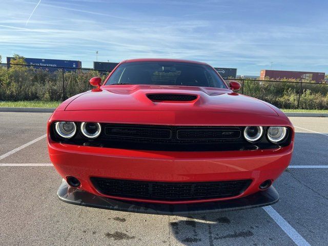
[[[91,177],[104,195],[150,200],[198,200],[233,197],[244,192],[252,180],[215,182],[151,182]]]

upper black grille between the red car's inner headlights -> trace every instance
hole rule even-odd
[[[241,131],[241,127],[103,124],[103,134],[97,140],[104,146],[119,149],[162,151],[239,150],[245,144]]]

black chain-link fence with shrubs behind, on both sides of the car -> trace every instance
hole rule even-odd
[[[61,101],[92,89],[91,77],[105,80],[110,71],[84,68],[0,64],[0,100]],[[296,80],[226,79],[239,81],[239,93],[281,109],[328,109],[328,84]]]

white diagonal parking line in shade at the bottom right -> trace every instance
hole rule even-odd
[[[284,218],[280,216],[271,206],[263,207],[278,226],[296,243],[298,246],[311,246]]]

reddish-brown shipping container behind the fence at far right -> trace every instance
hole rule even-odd
[[[305,81],[315,81],[322,83],[324,80],[324,73],[319,72],[299,72],[299,71],[281,71],[281,70],[261,70],[260,79],[265,78],[273,79],[302,79]]]

